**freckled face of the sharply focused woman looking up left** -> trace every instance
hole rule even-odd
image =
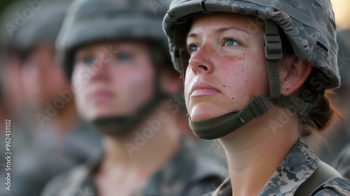
[[[193,121],[242,109],[268,92],[263,23],[232,13],[195,17],[186,44],[190,54],[185,99]]]

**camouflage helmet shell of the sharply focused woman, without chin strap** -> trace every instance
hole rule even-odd
[[[307,60],[329,79],[323,88],[339,87],[336,25],[329,0],[174,0],[163,20],[163,29],[177,71],[181,71],[181,66],[186,68],[187,64],[179,63],[179,49],[184,49],[179,47],[186,41],[184,36],[174,33],[176,26],[186,24],[187,18],[196,13],[211,12],[239,13],[272,20],[283,29],[297,57]]]

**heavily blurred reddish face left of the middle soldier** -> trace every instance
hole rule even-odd
[[[22,63],[21,75],[25,102],[37,107],[53,102],[59,97],[59,91],[69,89],[69,83],[55,62],[53,43],[34,45]]]

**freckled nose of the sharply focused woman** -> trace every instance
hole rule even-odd
[[[213,48],[210,45],[202,45],[188,60],[188,65],[195,76],[198,74],[210,74],[214,71],[212,62]]]

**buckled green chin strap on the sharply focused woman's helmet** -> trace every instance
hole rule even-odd
[[[302,101],[302,99],[281,95],[279,80],[279,59],[282,58],[281,36],[279,36],[278,26],[271,20],[265,20],[265,29],[264,50],[269,76],[269,97],[262,93],[257,97],[252,97],[251,102],[240,111],[233,111],[223,116],[198,122],[189,120],[190,128],[197,137],[201,139],[224,137],[246,125],[253,118],[266,113],[272,104],[284,106],[304,116],[313,111],[314,106]]]

